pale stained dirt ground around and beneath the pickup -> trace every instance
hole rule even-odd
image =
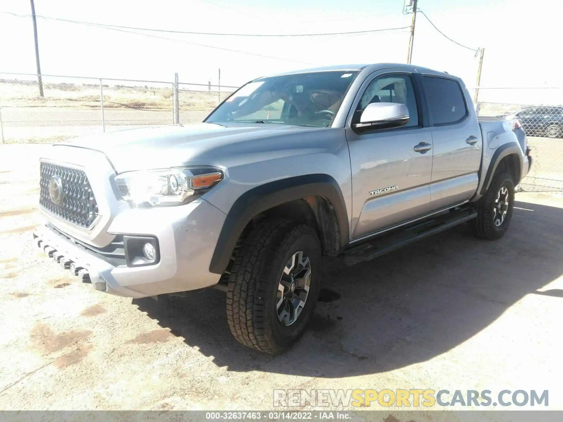
[[[39,252],[38,158],[0,145],[0,409],[272,408],[274,389],[549,390],[563,409],[563,197],[517,194],[500,241],[464,227],[344,267],[283,356],[238,344],[225,294],[113,297]],[[440,408],[442,410],[443,408]]]

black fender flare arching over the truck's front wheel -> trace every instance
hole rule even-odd
[[[307,196],[323,196],[332,204],[342,249],[348,243],[350,230],[342,191],[336,180],[328,174],[306,174],[264,183],[240,195],[227,214],[209,264],[209,272],[225,272],[236,242],[252,218],[276,205]]]

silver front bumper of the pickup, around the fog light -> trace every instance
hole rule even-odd
[[[82,281],[90,281],[96,290],[142,298],[217,284],[220,275],[209,272],[209,264],[225,218],[225,213],[203,199],[119,213],[109,233],[157,237],[160,261],[149,266],[119,265],[47,225],[39,226],[33,237],[49,257]]]

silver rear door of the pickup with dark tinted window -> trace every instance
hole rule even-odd
[[[455,78],[422,75],[432,126],[434,163],[430,183],[433,211],[470,199],[479,184],[482,139],[467,89]]]

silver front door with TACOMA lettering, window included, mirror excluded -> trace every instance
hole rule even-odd
[[[432,134],[423,127],[412,75],[378,71],[359,92],[346,129],[352,169],[352,241],[428,213],[432,173]],[[371,102],[405,104],[409,122],[356,133],[351,125]]]

